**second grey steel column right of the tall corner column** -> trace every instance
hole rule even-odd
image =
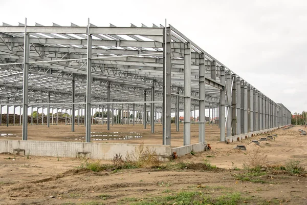
[[[200,54],[200,64],[199,64],[199,142],[205,142],[205,99],[206,99],[206,87],[205,87],[205,63],[206,57],[205,53]]]

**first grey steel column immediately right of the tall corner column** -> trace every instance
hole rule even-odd
[[[190,145],[191,139],[191,44],[187,43],[184,48],[184,127],[183,145]]]

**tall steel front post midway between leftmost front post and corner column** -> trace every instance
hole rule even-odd
[[[91,99],[92,99],[92,35],[90,33],[90,19],[87,22],[87,63],[86,63],[86,112],[85,138],[91,142]]]

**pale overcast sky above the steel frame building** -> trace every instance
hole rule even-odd
[[[7,1],[4,23],[171,24],[292,113],[306,110],[307,1]]]

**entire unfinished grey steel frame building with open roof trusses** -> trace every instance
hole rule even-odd
[[[108,113],[107,130],[114,122],[109,113],[124,106],[134,113],[143,111],[144,116],[150,110],[152,133],[161,116],[163,145],[171,144],[171,112],[177,122],[179,112],[184,112],[184,145],[190,144],[192,110],[199,110],[199,142],[205,142],[207,108],[218,110],[221,141],[225,135],[291,124],[286,107],[166,24],[97,27],[90,20],[87,26],[70,27],[27,26],[27,20],[18,26],[3,24],[0,76],[1,111],[4,106],[7,113],[9,106],[14,110],[20,106],[28,116],[30,107],[47,107],[49,127],[50,109],[73,110],[74,119],[75,111],[79,116],[84,108],[86,142],[91,140],[92,110],[102,106]],[[23,118],[23,140],[28,136],[27,120]],[[72,120],[72,131],[74,126]]]

